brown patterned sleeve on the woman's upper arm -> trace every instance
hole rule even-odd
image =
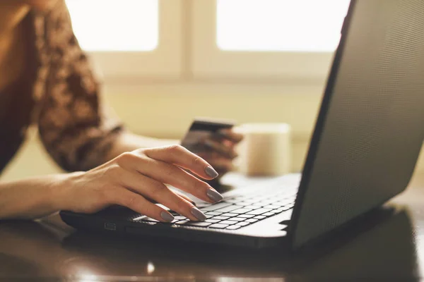
[[[102,106],[98,81],[63,0],[45,18],[45,40],[50,66],[38,119],[40,137],[66,171],[86,171],[107,161],[123,128]]]

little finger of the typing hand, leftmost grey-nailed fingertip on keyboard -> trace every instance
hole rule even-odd
[[[174,220],[174,216],[167,212],[167,210],[159,207],[146,200],[141,195],[131,192],[126,189],[117,189],[112,192],[110,197],[113,199],[113,204],[119,204],[121,206],[132,209],[134,212],[143,214],[162,222],[171,222]]]

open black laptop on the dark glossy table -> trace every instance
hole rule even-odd
[[[61,212],[89,231],[291,250],[403,192],[424,140],[424,1],[353,0],[300,175],[223,193],[204,222]]]

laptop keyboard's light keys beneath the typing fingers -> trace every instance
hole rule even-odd
[[[170,211],[175,216],[175,220],[172,223],[163,224],[237,230],[238,228],[249,226],[270,216],[275,216],[281,212],[293,209],[296,192],[295,190],[279,190],[274,193],[266,193],[266,195],[264,193],[254,193],[254,195],[230,197],[218,204],[199,208],[206,215],[206,221],[190,221],[185,216]],[[162,223],[147,216],[139,216],[132,221]]]

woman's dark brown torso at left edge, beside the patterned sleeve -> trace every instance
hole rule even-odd
[[[31,15],[18,25],[0,56],[0,172],[20,147],[33,111]]]

